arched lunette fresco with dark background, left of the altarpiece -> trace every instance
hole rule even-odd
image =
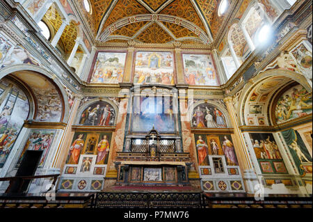
[[[112,126],[115,123],[115,110],[108,102],[99,101],[90,104],[81,113],[79,125]]]

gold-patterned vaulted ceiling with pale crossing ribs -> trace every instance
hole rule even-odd
[[[213,42],[225,16],[218,16],[220,0],[88,0],[91,13],[82,8],[86,24],[99,42],[166,43]],[[73,2],[73,1],[72,1]],[[229,0],[230,3],[233,0]],[[163,38],[153,37],[161,35]],[[146,38],[146,39],[145,39]]]

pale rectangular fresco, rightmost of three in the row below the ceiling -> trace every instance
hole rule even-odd
[[[211,55],[183,54],[185,83],[191,86],[218,86]]]

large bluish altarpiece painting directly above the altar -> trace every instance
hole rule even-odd
[[[175,132],[172,97],[134,97],[133,110],[133,132]]]

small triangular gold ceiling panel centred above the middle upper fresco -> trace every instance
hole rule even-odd
[[[145,43],[166,43],[173,39],[157,23],[154,23],[138,35],[137,40]]]

